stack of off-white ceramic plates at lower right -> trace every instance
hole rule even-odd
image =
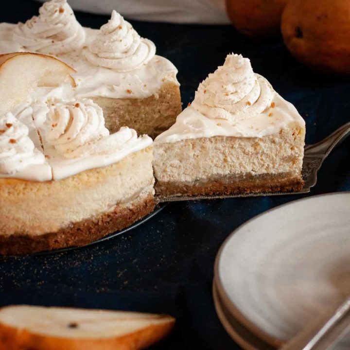
[[[350,296],[350,192],[269,210],[234,231],[215,262],[213,297],[244,349],[277,349]],[[350,349],[350,338],[337,349]]]

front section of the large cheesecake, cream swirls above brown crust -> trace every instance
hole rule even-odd
[[[38,103],[32,118],[0,118],[0,254],[86,245],[154,209],[150,137],[110,134],[87,99]]]

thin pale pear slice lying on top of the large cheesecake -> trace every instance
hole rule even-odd
[[[25,101],[37,87],[75,86],[74,72],[66,63],[41,53],[1,54],[0,115]]]

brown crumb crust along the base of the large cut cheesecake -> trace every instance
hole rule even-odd
[[[117,205],[113,211],[93,219],[72,223],[56,232],[31,236],[14,234],[0,236],[0,255],[22,255],[70,246],[83,246],[112,232],[128,227],[154,210],[154,197],[135,199],[127,204]]]

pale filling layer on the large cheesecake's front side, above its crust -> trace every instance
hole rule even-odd
[[[137,216],[134,210],[139,211],[138,207],[133,207],[134,196],[138,197],[135,202],[143,207],[147,198],[152,200],[154,195],[152,150],[141,150],[109,167],[92,169],[59,181],[10,182],[12,184],[14,190],[4,181],[0,186],[0,216],[4,225],[0,231],[5,236],[37,237],[70,229],[85,220],[99,221],[111,211],[115,211],[117,217],[126,215],[129,218],[130,215]],[[100,224],[99,228],[102,228],[105,222]],[[85,229],[93,228],[86,226]]]

